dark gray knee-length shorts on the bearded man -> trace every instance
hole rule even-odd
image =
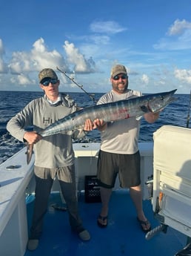
[[[118,175],[121,188],[130,188],[141,184],[141,157],[139,151],[135,154],[114,154],[99,151],[98,155],[98,185],[113,188]]]

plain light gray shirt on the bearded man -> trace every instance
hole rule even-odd
[[[141,96],[140,91],[128,89],[127,93],[110,91],[98,100],[97,104],[116,102]],[[101,150],[115,154],[135,154],[138,151],[138,135],[140,122],[135,117],[108,122],[107,128],[101,131]]]

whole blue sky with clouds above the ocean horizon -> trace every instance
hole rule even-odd
[[[60,68],[92,92],[110,91],[123,64],[129,88],[191,89],[191,0],[1,0],[0,91],[41,91]],[[80,91],[64,74],[60,91]]]

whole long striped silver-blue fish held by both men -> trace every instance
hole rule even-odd
[[[113,122],[133,116],[136,119],[141,119],[141,116],[144,114],[148,112],[157,113],[170,104],[170,102],[174,101],[175,98],[172,96],[175,91],[176,89],[83,108],[73,114],[64,116],[64,118],[47,126],[47,128],[38,132],[38,134],[41,137],[47,137],[60,132],[75,131],[84,127],[86,119],[91,119],[92,121],[94,119],[103,119],[104,122]],[[27,145],[27,163],[30,163],[32,156],[31,148],[33,151],[33,147]]]

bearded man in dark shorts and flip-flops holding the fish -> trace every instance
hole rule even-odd
[[[127,70],[124,65],[115,65],[111,70],[112,90],[101,96],[98,104],[116,102],[141,96],[140,91],[128,88]],[[144,114],[147,122],[153,123],[159,113]],[[97,223],[101,228],[107,227],[110,196],[118,174],[120,186],[130,188],[130,197],[137,212],[137,220],[143,232],[150,231],[150,222],[144,215],[141,197],[140,154],[138,135],[140,122],[135,117],[118,122],[107,122],[96,119],[93,128],[101,131],[101,150],[98,155],[98,184],[101,186],[101,213]]]

